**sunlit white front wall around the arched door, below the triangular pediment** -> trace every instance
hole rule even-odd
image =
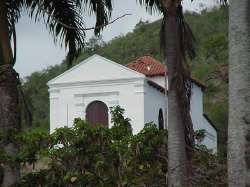
[[[104,81],[99,84],[86,82],[77,86],[51,86],[50,132],[58,127],[72,126],[73,120],[77,117],[85,119],[88,104],[99,100],[108,108],[115,105],[124,108],[125,116],[132,120],[133,132],[138,133],[144,126],[143,88],[143,79]],[[109,120],[110,118],[109,114]]]

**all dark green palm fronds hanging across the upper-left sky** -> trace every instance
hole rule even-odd
[[[112,0],[7,0],[10,37],[22,8],[35,21],[43,18],[55,42],[69,49],[68,62],[71,63],[84,47],[83,8],[95,14],[95,34],[108,24],[112,11]]]

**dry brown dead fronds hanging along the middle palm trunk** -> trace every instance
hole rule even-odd
[[[177,95],[177,102],[180,106],[182,121],[184,124],[185,130],[185,141],[188,146],[194,145],[194,131],[192,119],[190,116],[190,100],[192,92],[192,81],[191,81],[191,71],[187,63],[187,57],[193,59],[195,57],[195,38],[190,29],[189,25],[185,22],[183,16],[182,6],[179,5],[177,8],[177,24],[178,24],[178,38],[180,51],[176,62],[174,62],[174,71],[175,74],[171,80],[170,90],[175,91]],[[169,12],[167,10],[163,11],[164,17],[162,20],[161,32],[160,32],[160,41],[161,41],[161,50],[165,58],[167,58],[167,50],[171,46],[166,46],[166,37],[168,33],[166,32],[166,24],[168,24]],[[170,62],[172,63],[172,62]]]

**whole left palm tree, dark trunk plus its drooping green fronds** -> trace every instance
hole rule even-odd
[[[1,0],[0,1],[0,130],[9,135],[20,131],[20,99],[18,74],[15,64],[15,24],[26,9],[29,16],[44,18],[50,33],[61,44],[68,47],[69,62],[84,47],[85,31],[82,28],[82,12],[96,15],[95,33],[108,24],[111,16],[111,0]],[[14,54],[11,38],[14,41]],[[23,62],[25,63],[25,62]],[[0,149],[10,156],[18,153],[18,145],[10,138],[2,141]],[[0,166],[1,167],[1,166]],[[3,166],[4,177],[1,186],[11,186],[19,180],[19,167]],[[1,170],[1,168],[0,168]],[[1,180],[0,180],[1,183]]]

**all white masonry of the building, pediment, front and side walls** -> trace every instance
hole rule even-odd
[[[164,88],[164,76],[147,77],[93,55],[48,82],[50,132],[72,126],[77,117],[85,119],[86,108],[93,101],[102,101],[108,108],[116,105],[124,108],[125,116],[131,119],[133,133],[138,133],[148,122],[158,125],[159,109],[164,114],[166,99],[164,93],[148,84],[149,80]],[[194,129],[205,129],[207,136],[202,143],[216,151],[217,132],[203,116],[202,96],[202,89],[194,83],[191,98]]]

